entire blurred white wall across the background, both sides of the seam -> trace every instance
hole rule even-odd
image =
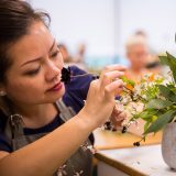
[[[144,30],[157,52],[176,51],[174,0],[31,0],[52,16],[58,42],[74,53],[85,42],[88,55],[124,55],[124,42]]]

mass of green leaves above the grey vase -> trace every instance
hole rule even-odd
[[[176,120],[176,58],[166,53],[166,56],[160,56],[160,59],[162,64],[169,67],[174,79],[165,85],[157,81],[156,85],[142,90],[142,94],[146,95],[145,108],[131,120],[143,119],[145,121],[144,139],[148,133],[155,133]]]

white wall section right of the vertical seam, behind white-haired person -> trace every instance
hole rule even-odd
[[[121,44],[136,30],[147,33],[157,52],[176,51],[176,1],[121,0]]]

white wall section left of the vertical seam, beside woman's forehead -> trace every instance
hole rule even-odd
[[[53,33],[72,51],[85,42],[89,55],[107,55],[114,51],[113,0],[31,0],[35,8],[52,16]]]

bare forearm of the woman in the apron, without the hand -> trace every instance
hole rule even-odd
[[[96,128],[76,116],[48,135],[11,154],[0,152],[1,176],[50,176]]]

